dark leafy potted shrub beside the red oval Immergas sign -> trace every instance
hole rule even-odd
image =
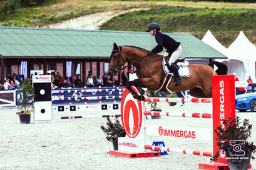
[[[109,117],[107,117],[106,120],[107,127],[101,126],[100,128],[106,134],[106,140],[113,144],[114,150],[118,150],[118,137],[125,137],[125,130],[117,117],[114,122],[112,122]]]

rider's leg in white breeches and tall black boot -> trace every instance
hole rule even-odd
[[[168,64],[170,68],[172,68],[173,74],[175,76],[175,86],[179,84],[183,84],[182,79],[180,79],[180,74],[178,74],[178,68],[177,64],[174,64],[174,62],[180,57],[182,54],[182,46],[178,46],[177,50],[172,53],[172,56],[170,57]]]

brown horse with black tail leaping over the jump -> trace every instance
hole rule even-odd
[[[113,50],[110,56],[110,63],[108,66],[108,74],[110,76],[116,76],[116,74],[131,65],[136,68],[136,76],[138,79],[128,81],[126,88],[130,91],[135,99],[145,101],[142,88],[150,88],[153,90],[159,90],[163,85],[166,74],[162,67],[163,56],[158,54],[148,54],[146,49],[135,46],[118,46],[113,44]],[[124,66],[128,63],[128,66]],[[218,69],[213,70],[213,64]],[[189,64],[190,77],[182,78],[183,84],[175,86],[173,84],[174,79],[168,84],[170,91],[190,91],[190,95],[195,98],[212,98],[212,76],[213,74],[227,74],[227,66],[225,64],[213,61],[208,65],[203,64]],[[123,68],[121,69],[121,67]],[[135,86],[141,95],[136,94],[131,86]],[[160,89],[160,91],[166,92],[166,90]]]

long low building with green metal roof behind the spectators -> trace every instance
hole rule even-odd
[[[166,34],[182,43],[182,57],[226,58],[192,34]],[[46,74],[56,68],[65,77],[66,61],[73,61],[81,71],[76,74],[74,70],[78,68],[74,68],[72,76],[81,76],[83,82],[88,71],[102,76],[108,66],[113,42],[148,50],[156,46],[155,38],[148,32],[0,27],[1,82],[8,74],[20,74],[21,61],[28,62],[28,75],[31,69],[43,69]]]

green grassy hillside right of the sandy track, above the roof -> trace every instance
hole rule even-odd
[[[223,37],[219,40],[228,46],[234,40],[230,37],[241,30],[248,34],[251,32],[250,36],[255,34],[255,21],[256,10],[254,9],[167,6],[121,14],[103,24],[100,29],[145,31],[148,24],[158,22],[163,32],[190,32],[200,39],[202,39],[201,34],[204,35],[210,29],[212,32],[217,32],[217,36]],[[252,38],[252,42],[255,43],[256,39]]]

